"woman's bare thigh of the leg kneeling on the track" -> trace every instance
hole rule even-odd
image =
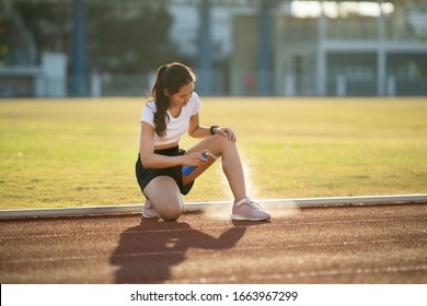
[[[165,221],[175,221],[184,211],[184,202],[180,188],[170,176],[153,178],[143,189],[160,217]]]

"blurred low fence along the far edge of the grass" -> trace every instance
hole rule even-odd
[[[310,75],[287,73],[274,79],[273,71],[268,73],[270,96],[315,96],[316,83]],[[206,74],[205,74],[206,75]],[[209,78],[212,96],[256,96],[259,75],[256,71],[215,71]],[[255,75],[250,78],[249,75]],[[148,74],[99,74],[92,73],[85,78],[84,96],[150,96],[154,72]],[[66,97],[74,96],[72,92],[72,75],[55,78],[37,69],[0,70],[0,97]],[[200,81],[200,80],[199,80]],[[198,82],[199,82],[198,81]],[[326,96],[377,96],[378,79],[374,74],[355,76],[346,74],[330,75],[325,80]],[[402,76],[389,74],[383,84],[384,96],[427,96],[427,78]],[[196,84],[200,94],[203,87]]]

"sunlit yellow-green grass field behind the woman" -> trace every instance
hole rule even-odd
[[[142,203],[134,166],[145,102],[0,101],[0,209]],[[427,98],[203,102],[203,125],[238,133],[255,199],[427,191]],[[232,200],[219,163],[184,200]]]

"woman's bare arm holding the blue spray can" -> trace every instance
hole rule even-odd
[[[139,154],[146,168],[168,168],[178,165],[200,166],[206,162],[201,153],[193,153],[181,156],[164,156],[154,153],[154,129],[147,122],[141,123],[139,139]]]

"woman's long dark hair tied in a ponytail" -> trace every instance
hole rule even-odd
[[[196,74],[189,67],[173,62],[166,63],[159,68],[155,83],[152,86],[151,93],[155,103],[154,126],[155,133],[159,137],[166,134],[166,125],[170,121],[168,116],[169,97],[165,96],[164,90],[173,95],[180,91],[182,86],[188,83],[196,82]]]

